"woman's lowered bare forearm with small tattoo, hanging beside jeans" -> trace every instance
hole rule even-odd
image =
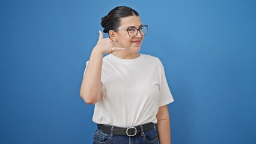
[[[169,120],[169,111],[167,105],[159,107],[156,115],[157,118],[157,134],[160,144],[171,143],[171,127]]]

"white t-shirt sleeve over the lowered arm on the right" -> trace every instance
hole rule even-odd
[[[159,107],[165,106],[166,104],[172,103],[174,101],[165,77],[165,70],[163,68],[162,63],[160,64],[160,67],[161,67],[161,76],[160,76],[160,95],[158,100]]]

